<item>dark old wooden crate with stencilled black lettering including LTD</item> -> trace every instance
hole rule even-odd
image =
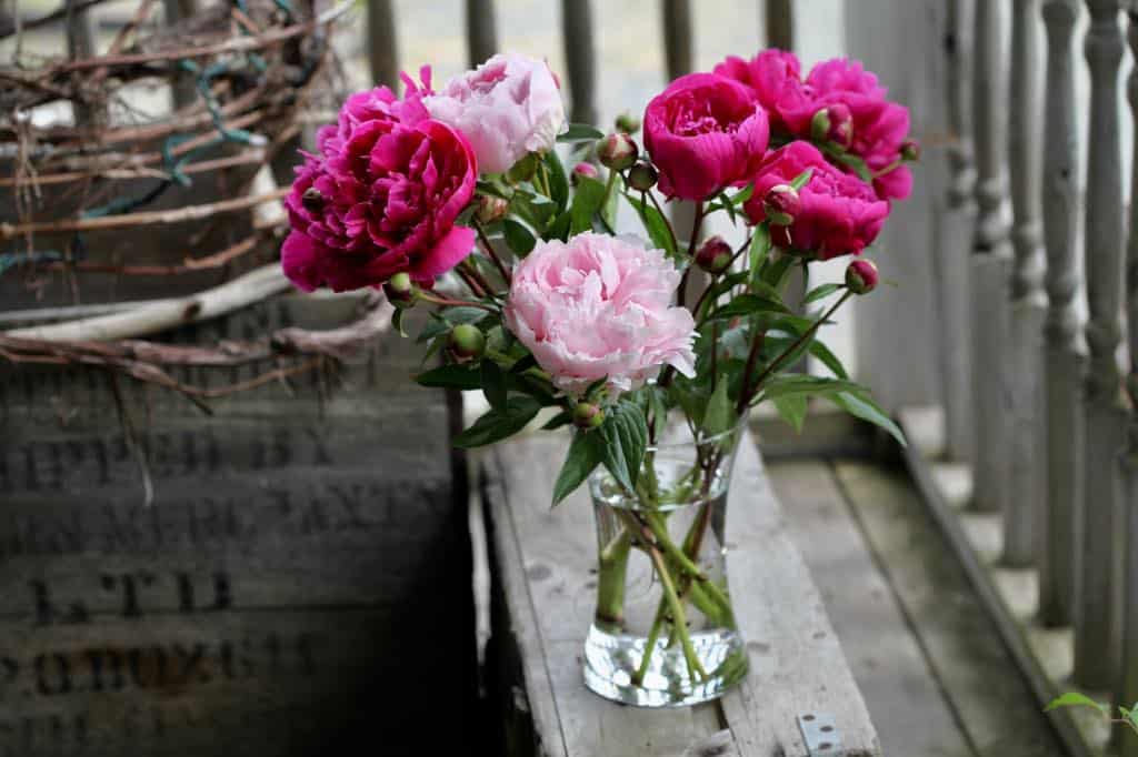
[[[282,298],[198,331],[349,307]],[[302,377],[211,418],[119,378],[133,446],[105,375],[7,371],[0,755],[399,755],[440,713],[431,743],[469,748],[464,484],[417,365],[388,335],[323,404]]]

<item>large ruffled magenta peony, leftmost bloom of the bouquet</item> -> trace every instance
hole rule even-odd
[[[297,168],[281,263],[303,290],[378,286],[403,272],[429,285],[473,247],[473,231],[454,225],[475,191],[473,151],[429,117],[429,90],[405,81],[403,100],[386,86],[348,98]]]

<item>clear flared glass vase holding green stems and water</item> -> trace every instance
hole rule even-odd
[[[704,436],[674,426],[649,448],[635,492],[603,466],[589,477],[599,560],[585,683],[602,697],[695,705],[747,674],[724,547],[742,429]]]

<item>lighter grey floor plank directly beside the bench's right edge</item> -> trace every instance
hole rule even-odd
[[[826,602],[887,755],[971,755],[921,639],[823,460],[769,463],[767,472]]]

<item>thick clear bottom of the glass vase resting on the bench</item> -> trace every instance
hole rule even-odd
[[[707,680],[692,682],[679,644],[669,648],[658,641],[643,680],[634,684],[648,640],[610,633],[594,624],[585,640],[585,685],[605,699],[637,707],[688,707],[718,699],[747,675],[743,639],[733,629],[691,637]]]

